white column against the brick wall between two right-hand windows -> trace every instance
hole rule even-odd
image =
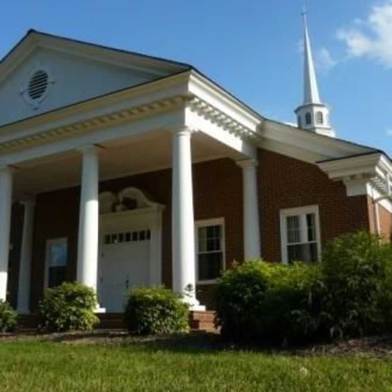
[[[254,159],[238,161],[243,170],[244,195],[244,258],[260,259],[260,223],[257,190],[257,165]]]

